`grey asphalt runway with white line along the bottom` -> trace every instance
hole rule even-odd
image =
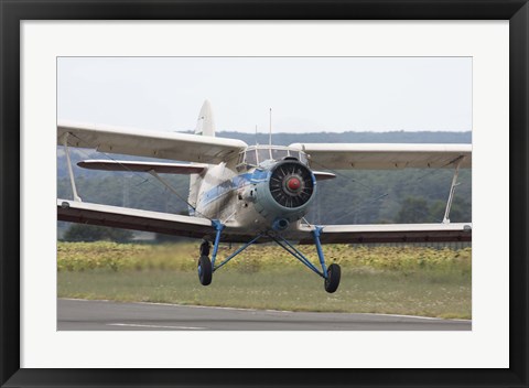
[[[57,300],[58,331],[471,331],[472,321]]]

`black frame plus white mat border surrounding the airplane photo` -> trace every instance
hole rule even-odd
[[[0,12],[2,386],[528,385],[527,1],[44,0]],[[82,56],[472,57],[472,330],[57,331],[57,58]]]

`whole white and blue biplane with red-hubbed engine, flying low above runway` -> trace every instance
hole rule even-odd
[[[73,201],[57,200],[57,218],[203,239],[198,279],[212,282],[213,272],[252,244],[274,241],[324,279],[327,292],[339,284],[341,268],[326,266],[322,244],[469,241],[471,224],[450,223],[449,214],[458,169],[471,168],[471,144],[294,143],[289,147],[248,146],[215,137],[209,103],[198,115],[194,134],[152,132],[110,126],[58,122],[57,144],[68,161]],[[186,163],[86,160],[85,169],[145,172],[174,192],[159,174],[188,174],[190,215],[175,215],[82,202],[77,194],[69,147],[100,152],[169,159]],[[443,223],[391,225],[311,225],[304,216],[320,181],[345,169],[454,169]],[[315,171],[327,170],[324,171]],[[339,204],[336,204],[339,206]],[[213,252],[209,259],[210,247]],[[220,242],[244,244],[216,262]],[[321,268],[296,244],[314,244]],[[220,260],[219,260],[220,261]]]

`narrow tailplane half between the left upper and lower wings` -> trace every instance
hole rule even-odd
[[[125,160],[84,160],[77,165],[88,170],[102,171],[154,171],[162,174],[199,174],[207,164],[188,163],[153,163],[153,162],[130,162]]]

